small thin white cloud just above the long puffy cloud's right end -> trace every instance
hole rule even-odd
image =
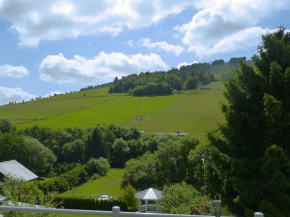
[[[180,55],[184,48],[178,45],[168,44],[165,41],[162,42],[151,42],[150,38],[142,38],[139,40],[140,45],[147,47],[149,50],[160,50],[166,53],[174,53],[175,56]]]

